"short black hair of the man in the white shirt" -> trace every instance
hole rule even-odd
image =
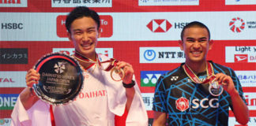
[[[96,11],[89,9],[86,6],[77,6],[74,8],[66,17],[66,30],[70,33],[70,26],[73,22],[73,20],[76,20],[81,17],[92,17],[92,19],[97,24],[97,29],[100,28],[100,16]]]

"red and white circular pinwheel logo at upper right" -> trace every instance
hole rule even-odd
[[[245,22],[240,17],[235,17],[229,22],[230,30],[233,32],[241,32],[245,28]]]

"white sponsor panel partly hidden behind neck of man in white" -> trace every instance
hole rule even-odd
[[[74,48],[53,48],[52,52],[61,52],[68,55],[74,54]],[[107,57],[113,57],[113,48],[96,48],[97,54],[104,54]]]

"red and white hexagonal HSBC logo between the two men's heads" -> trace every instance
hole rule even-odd
[[[153,32],[166,32],[171,28],[171,26],[171,23],[166,19],[154,19],[147,25],[147,27]]]

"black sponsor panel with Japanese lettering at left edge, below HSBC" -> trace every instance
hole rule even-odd
[[[28,64],[28,49],[1,48],[0,64]]]

